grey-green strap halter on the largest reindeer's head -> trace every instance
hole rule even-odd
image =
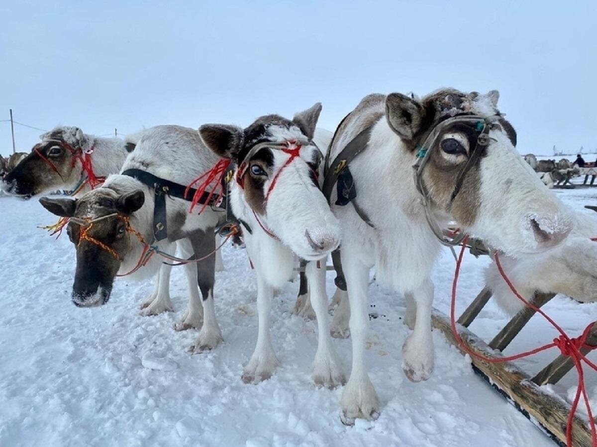
[[[417,161],[413,165],[414,169],[414,183],[417,187],[418,192],[421,195],[421,204],[423,205],[423,209],[425,212],[425,218],[427,223],[429,224],[430,229],[432,230],[433,234],[438,238],[439,242],[445,246],[456,246],[462,243],[465,235],[464,233],[458,233],[456,235],[445,235],[442,230],[439,229],[439,225],[433,216],[433,211],[431,209],[432,205],[432,198],[427,189],[424,181],[423,181],[423,170],[429,162],[429,158],[431,156],[433,147],[435,147],[435,143],[437,142],[439,136],[442,134],[442,131],[445,128],[453,125],[454,123],[464,123],[464,124],[472,124],[475,126],[475,130],[479,132],[479,136],[477,137],[475,147],[469,152],[469,158],[466,161],[466,164],[460,169],[458,172],[458,176],[456,177],[456,185],[454,186],[454,190],[450,195],[450,201],[448,202],[448,206],[445,211],[450,212],[452,208],[452,204],[454,203],[454,199],[458,193],[460,193],[460,189],[464,182],[464,178],[466,177],[467,172],[469,172],[470,168],[473,167],[475,161],[479,159],[481,156],[481,149],[482,147],[486,147],[490,142],[489,132],[498,119],[500,119],[500,115],[491,115],[488,117],[483,117],[479,115],[460,115],[454,116],[453,118],[448,118],[445,121],[436,124],[433,127],[432,131],[427,135],[425,138],[424,143],[421,146],[417,146]]]

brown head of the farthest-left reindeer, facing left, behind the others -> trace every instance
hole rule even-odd
[[[40,136],[29,155],[4,178],[3,189],[31,196],[74,186],[81,178],[75,155],[90,150],[93,141],[78,127],[57,127]]]

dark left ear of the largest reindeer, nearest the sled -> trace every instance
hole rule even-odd
[[[401,93],[386,97],[386,119],[390,128],[403,140],[412,140],[420,130],[425,111],[420,102]]]

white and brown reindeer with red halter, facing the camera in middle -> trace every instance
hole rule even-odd
[[[329,142],[329,132],[318,138],[315,131],[320,112],[321,104],[315,104],[292,121],[268,115],[244,130],[219,124],[199,129],[208,147],[236,164],[231,203],[244,223],[247,252],[257,273],[259,332],[242,374],[245,383],[269,378],[279,365],[269,335],[269,313],[273,290],[293,278],[297,257],[308,261],[305,275],[318,321],[313,380],[328,387],[344,382],[331,343],[325,293],[325,258],[340,243],[340,229],[319,189],[318,145]],[[318,261],[323,261],[322,268]]]

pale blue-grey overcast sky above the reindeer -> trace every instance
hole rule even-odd
[[[0,120],[243,127],[369,93],[500,91],[521,153],[597,149],[597,1],[4,1]],[[556,6],[558,4],[558,6]],[[17,150],[41,132],[16,125]],[[0,153],[11,151],[0,122]]]

